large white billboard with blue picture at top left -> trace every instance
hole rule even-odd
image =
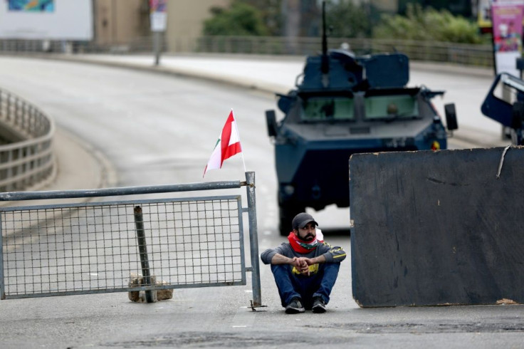
[[[92,40],[92,1],[0,1],[0,38],[69,41]]]

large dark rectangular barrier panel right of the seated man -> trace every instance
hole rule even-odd
[[[524,303],[523,147],[350,159],[362,307]]]

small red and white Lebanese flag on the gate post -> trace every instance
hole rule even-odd
[[[239,154],[239,152],[242,152],[239,129],[236,127],[233,110],[231,110],[231,113],[229,113],[229,117],[226,120],[226,125],[224,125],[224,128],[222,129],[219,140],[216,141],[215,149],[207,162],[202,177],[204,177],[209,170],[222,168],[224,160],[229,159],[229,157],[232,157],[233,155]]]

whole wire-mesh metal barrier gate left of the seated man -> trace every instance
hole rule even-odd
[[[108,197],[246,187],[241,196],[141,199],[0,208],[0,298],[246,285],[261,306],[254,172],[204,182],[0,194],[0,201]],[[245,264],[248,214],[251,266]],[[131,280],[137,274],[143,283]],[[154,282],[161,281],[161,282]],[[149,295],[149,296],[148,296]]]

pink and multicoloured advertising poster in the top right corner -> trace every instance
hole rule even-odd
[[[505,71],[520,76],[520,71],[516,68],[516,60],[520,58],[522,52],[523,11],[522,3],[491,4],[493,50],[497,74]]]

